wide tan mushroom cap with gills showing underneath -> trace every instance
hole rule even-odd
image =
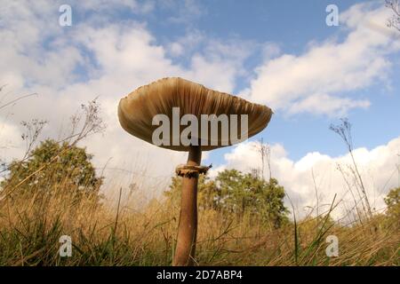
[[[247,138],[259,133],[267,127],[271,119],[272,111],[268,106],[253,104],[245,99],[229,95],[228,93],[213,91],[205,88],[203,85],[193,83],[179,77],[168,77],[157,80],[145,86],[132,91],[129,95],[119,101],[118,118],[124,130],[143,139],[148,143],[154,144],[152,137],[153,131],[160,125],[152,125],[153,117],[156,114],[165,114],[168,116],[170,127],[170,141],[172,141],[172,107],[180,107],[180,118],[184,114],[194,114],[198,119],[198,135],[200,138],[201,114],[237,114],[237,124],[241,125],[240,114],[247,114],[248,129]],[[230,121],[229,121],[230,123]],[[189,123],[190,124],[190,123]],[[187,125],[180,125],[179,135]],[[208,143],[201,143],[204,151],[231,146],[237,142],[228,139],[228,145],[223,145],[220,125],[218,128],[218,144],[211,143],[211,130],[208,130]],[[242,130],[237,130],[238,136]],[[244,133],[242,133],[244,134]],[[207,140],[207,139],[205,139]],[[206,145],[204,145],[206,144]],[[179,145],[161,145],[160,147],[174,151],[188,151],[189,146]]]

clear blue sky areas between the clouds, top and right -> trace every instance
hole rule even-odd
[[[308,43],[324,42],[328,38],[343,38],[346,31],[340,27],[328,27],[325,24],[328,4],[337,4],[339,12],[346,11],[350,6],[363,1],[201,1],[196,3],[198,13],[188,21],[172,21],[177,17],[176,6],[156,5],[150,15],[137,15],[122,12],[115,18],[135,19],[144,21],[156,36],[157,43],[168,44],[185,36],[188,31],[196,30],[205,36],[219,39],[240,39],[262,45],[276,43],[283,53],[300,55],[308,48]],[[380,2],[375,2],[380,4]],[[181,9],[183,2],[179,5]],[[178,8],[178,9],[180,9]],[[111,18],[111,20],[116,20]],[[194,49],[193,52],[199,51]],[[245,59],[244,66],[249,73],[262,60],[260,47]],[[354,143],[356,147],[372,148],[396,138],[400,133],[400,90],[398,54],[388,57],[395,67],[390,70],[388,86],[383,83],[368,86],[353,91],[352,96],[363,97],[371,101],[368,109],[353,109],[346,114],[316,115],[296,114],[287,117],[282,112],[276,112],[268,130],[257,138],[263,138],[271,144],[282,143],[292,159],[300,159],[308,152],[317,151],[332,156],[344,154],[346,147],[340,139],[329,130],[329,125],[339,122],[340,117],[348,117],[354,124]],[[188,56],[173,58],[174,61],[188,65]],[[397,68],[396,68],[397,66]],[[312,67],[312,66],[310,66]],[[247,87],[249,79],[238,77],[235,93]],[[340,92],[337,95],[342,95]],[[344,92],[346,95],[346,92]],[[223,154],[230,149],[214,151],[211,162],[221,162]]]

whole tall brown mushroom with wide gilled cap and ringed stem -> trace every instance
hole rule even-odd
[[[165,143],[160,144],[159,141],[155,143],[154,131],[159,128],[159,124],[155,123],[154,118],[158,114],[162,115],[162,118],[169,119],[170,124],[167,125],[166,129],[170,130],[171,126],[173,129],[174,123],[176,123],[177,107],[179,107],[178,110],[180,111],[178,114],[179,119],[183,119],[185,115],[190,114],[191,116],[189,117],[196,117],[200,121],[200,128],[197,125],[197,128],[190,132],[188,136],[190,143],[188,141],[183,143],[180,140],[180,135],[185,130],[182,123],[178,128],[175,127],[175,130],[170,131],[169,135],[163,133],[162,141]],[[212,118],[209,121],[204,121],[204,114]],[[234,124],[240,122],[241,139],[232,139],[231,135],[227,136],[227,131],[221,130],[222,122],[220,122],[221,128],[217,132],[208,131],[203,135],[204,133],[199,131],[199,129],[207,130],[209,122],[217,121],[218,124],[217,118],[223,114],[236,118],[235,123],[229,121],[230,126],[236,126]],[[267,127],[271,115],[272,111],[268,106],[252,104],[245,99],[220,91],[213,91],[201,84],[178,77],[164,78],[141,86],[120,100],[118,118],[124,130],[153,145],[174,151],[188,152],[188,162],[186,165],[180,165],[176,170],[177,174],[183,179],[180,220],[173,265],[194,264],[197,233],[198,176],[211,167],[200,165],[202,151],[230,146],[242,141],[243,138],[252,137]],[[239,117],[239,120],[237,120],[237,117]],[[193,121],[191,122],[193,123]],[[243,122],[246,122],[247,125],[244,125],[245,123]],[[188,119],[183,124],[188,125]],[[232,127],[229,128],[229,133],[232,133]]]

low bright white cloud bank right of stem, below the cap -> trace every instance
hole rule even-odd
[[[234,147],[230,153],[225,154],[225,163],[212,169],[210,175],[215,177],[220,170],[225,169],[248,172],[260,168],[260,154],[254,150],[254,146],[255,142],[246,142]],[[363,177],[372,208],[382,209],[384,207],[383,197],[390,188],[397,186],[396,154],[399,151],[400,137],[392,139],[387,145],[377,146],[371,150],[366,148],[354,150],[357,167]],[[340,164],[352,185],[353,193],[357,196],[354,178],[351,178],[351,175],[348,176],[348,166],[351,165],[349,154],[331,157],[327,154],[313,152],[304,155],[299,161],[292,161],[284,146],[276,144],[271,146],[270,161],[272,176],[276,177],[281,185],[284,185],[286,193],[291,197],[301,216],[308,212],[308,206],[316,206],[313,172],[316,178],[319,203],[325,204],[321,211],[328,209],[327,205],[332,202],[335,193],[338,194],[336,201],[343,198],[340,207],[334,212],[335,217],[343,216],[345,206],[347,209],[354,206],[348,186],[338,170],[338,164]],[[267,172],[266,165],[266,178],[268,178]],[[358,198],[356,199],[358,200]],[[287,203],[287,205],[289,204]]]

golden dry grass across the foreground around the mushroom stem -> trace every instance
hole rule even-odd
[[[152,201],[145,209],[110,209],[60,186],[36,196],[0,201],[0,265],[170,265],[179,209]],[[68,194],[66,193],[68,192]],[[398,265],[400,234],[382,216],[362,225],[307,218],[279,230],[250,215],[199,212],[199,265]],[[296,229],[296,230],[295,230]],[[294,232],[296,231],[296,234]],[[339,238],[328,257],[327,235]],[[71,257],[60,257],[60,236],[72,238]]]

